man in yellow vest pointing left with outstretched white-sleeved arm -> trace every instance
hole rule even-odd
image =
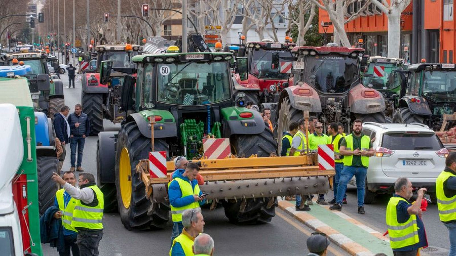
[[[58,182],[65,191],[76,199],[71,226],[78,230],[78,241],[81,255],[98,256],[98,244],[103,238],[104,195],[95,184],[93,174],[82,172],[78,183],[81,187],[73,187],[56,173],[52,179]]]

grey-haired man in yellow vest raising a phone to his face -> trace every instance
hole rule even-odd
[[[413,195],[412,183],[402,177],[394,183],[395,194],[386,207],[386,225],[389,233],[389,244],[394,256],[415,256],[418,250],[426,247],[425,226],[421,220],[423,210],[421,201],[425,188],[418,190],[415,203],[409,201]]]

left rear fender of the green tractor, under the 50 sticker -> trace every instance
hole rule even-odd
[[[133,113],[127,117],[127,123],[135,122],[143,136],[152,138],[150,134],[150,116],[161,116],[161,120],[154,123],[154,138],[177,137],[176,120],[171,112],[159,109],[148,109]],[[155,119],[156,120],[156,119]]]

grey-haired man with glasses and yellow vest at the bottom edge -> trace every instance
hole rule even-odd
[[[187,209],[182,213],[181,235],[172,242],[170,256],[191,256],[193,255],[193,243],[195,238],[204,229],[204,218],[201,208]]]

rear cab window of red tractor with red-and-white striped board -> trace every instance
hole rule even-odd
[[[272,65],[272,56],[274,52],[279,53],[279,65]],[[281,64],[285,65],[291,61],[281,59],[280,57],[291,57],[291,52],[265,49],[253,51],[252,62],[250,63],[250,73],[255,77],[263,79],[287,79],[289,73],[281,73],[280,66]],[[285,65],[283,68],[287,69],[288,66]]]

